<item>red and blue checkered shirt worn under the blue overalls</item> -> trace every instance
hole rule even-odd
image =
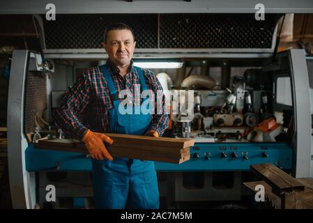
[[[132,98],[140,98],[140,95],[134,95],[140,93],[135,91],[134,84],[140,84],[137,70],[133,66],[131,61],[130,72],[122,77],[120,70],[114,64],[107,60],[107,66],[117,93],[122,90],[129,89],[132,92]],[[144,73],[144,79],[146,80],[147,88],[151,89],[155,97],[155,109],[158,106],[165,105],[164,95],[157,94],[157,91],[162,91],[162,86],[156,76],[151,70],[142,68]],[[120,100],[124,100],[121,98]],[[135,103],[135,102],[134,102]],[[162,103],[162,105],[157,105]],[[109,109],[112,109],[113,102],[110,98],[109,88],[105,77],[100,72],[100,68],[90,68],[84,72],[84,75],[68,89],[64,94],[60,107],[54,109],[52,117],[56,125],[61,128],[66,134],[82,139],[84,132],[87,129],[96,132],[108,132],[109,131]],[[151,126],[148,130],[156,130],[161,136],[167,129],[169,124],[169,116],[165,113],[165,109],[161,114],[152,114]]]

